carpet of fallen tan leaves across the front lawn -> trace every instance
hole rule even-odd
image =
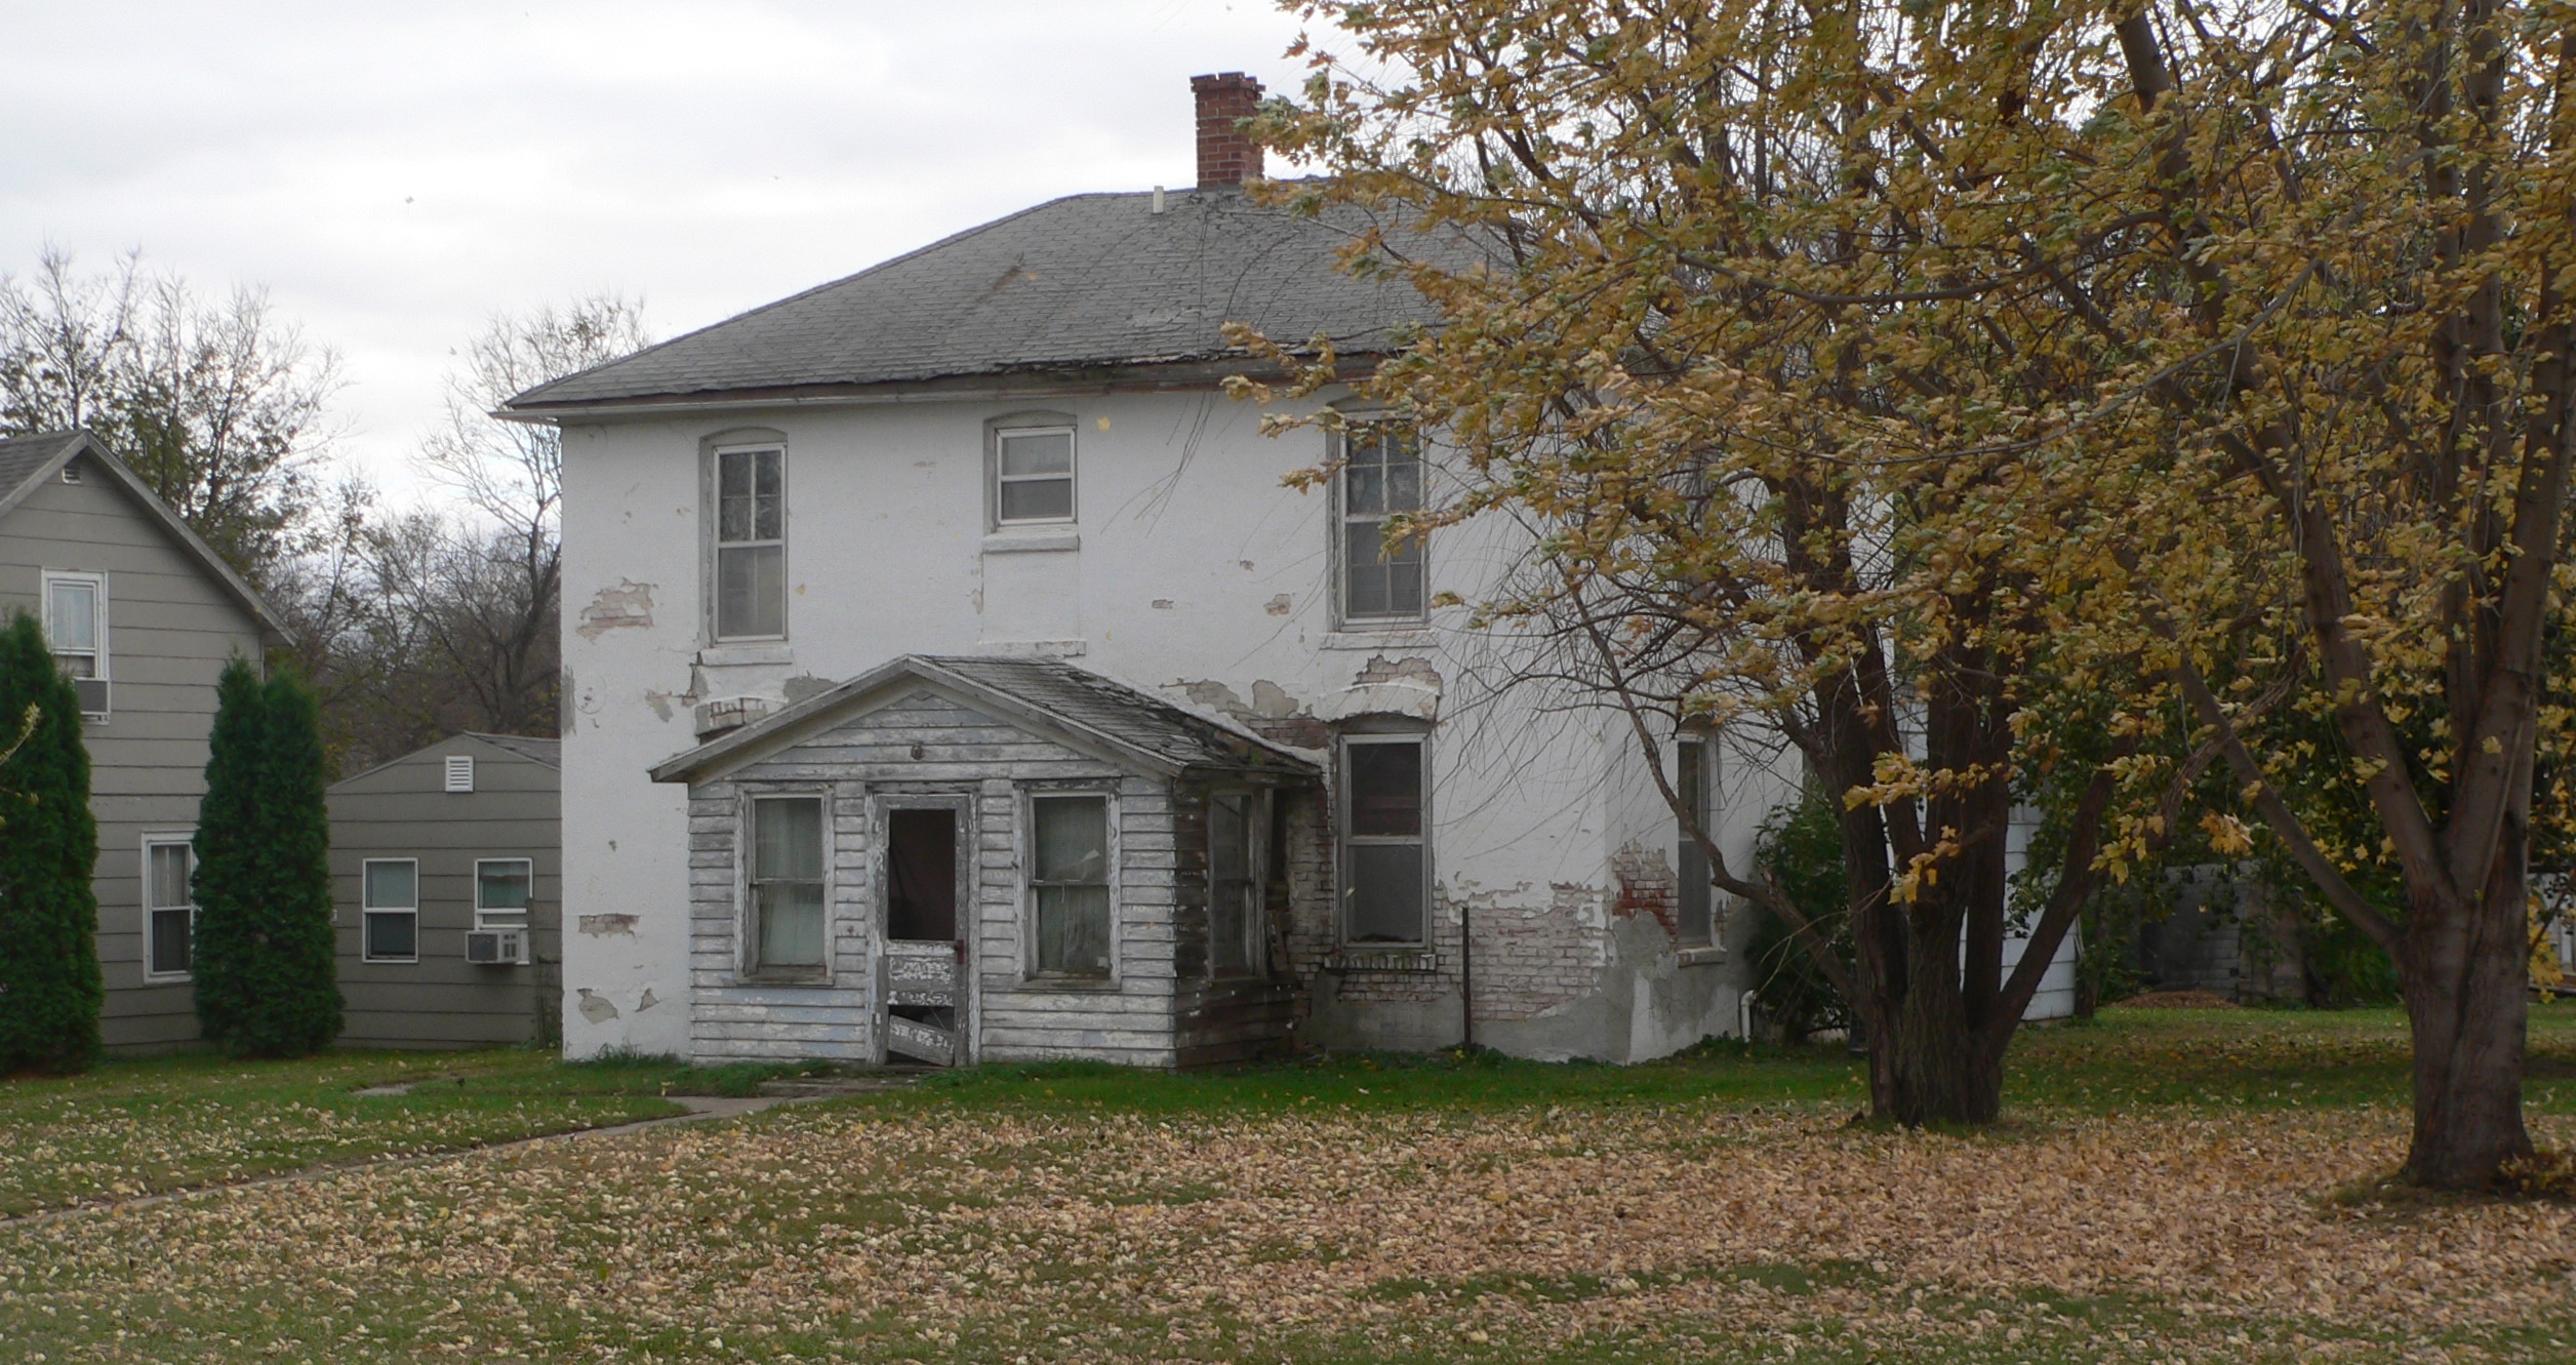
[[[961,1339],[1005,1360],[1301,1339],[1687,1355],[1710,1332],[1765,1355],[1950,1342],[1984,1360],[2066,1339],[2074,1301],[2172,1319],[2136,1355],[2102,1329],[2087,1357],[2105,1360],[2161,1360],[2174,1334],[2311,1357],[2563,1334],[2576,1210],[2329,1200],[2393,1169],[2403,1138],[2391,1110],[2056,1115],[1955,1138],[1698,1105],[819,1107],[18,1228],[0,1234],[0,1321],[41,1311],[98,1360],[260,1332],[350,1360],[827,1360]],[[72,1334],[82,1313],[131,1344]]]

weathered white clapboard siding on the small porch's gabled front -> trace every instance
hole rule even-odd
[[[1115,796],[1110,981],[1033,981],[1025,971],[1020,809],[1030,788],[1048,786]],[[832,798],[824,930],[832,971],[817,984],[757,984],[739,971],[742,801],[762,791],[829,791]],[[1177,858],[1167,783],[1121,773],[927,688],[690,791],[693,1056],[881,1056],[873,1035],[884,932],[878,829],[889,801],[917,796],[969,798],[969,819],[958,829],[971,850],[963,889],[969,922],[961,925],[974,981],[969,1056],[1177,1061]]]

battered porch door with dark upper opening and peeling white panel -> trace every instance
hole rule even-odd
[[[963,804],[886,811],[886,937],[878,958],[886,1053],[956,1066],[963,1056]]]

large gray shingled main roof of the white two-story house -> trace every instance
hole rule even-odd
[[[510,399],[520,412],[742,391],[1172,366],[1242,355],[1226,322],[1342,353],[1432,322],[1401,278],[1352,278],[1334,252],[1360,209],[1301,216],[1239,191],[1084,193],[933,242]],[[1422,250],[1425,240],[1388,232]]]

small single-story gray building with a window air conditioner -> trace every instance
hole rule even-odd
[[[456,734],[330,788],[343,1046],[554,1040],[562,749]]]

